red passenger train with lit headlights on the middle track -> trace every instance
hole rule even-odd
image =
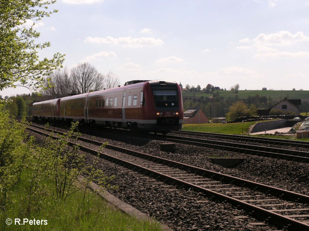
[[[34,119],[168,132],[181,128],[184,113],[181,89],[176,82],[134,80],[123,87],[33,103],[32,116]]]

